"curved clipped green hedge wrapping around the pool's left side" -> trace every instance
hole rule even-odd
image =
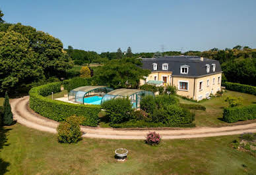
[[[77,105],[56,101],[46,98],[46,95],[60,91],[61,83],[54,82],[43,86],[32,88],[29,91],[30,108],[42,116],[46,116],[55,121],[63,121],[73,115],[84,116],[86,120],[84,126],[98,126],[100,105]]]

